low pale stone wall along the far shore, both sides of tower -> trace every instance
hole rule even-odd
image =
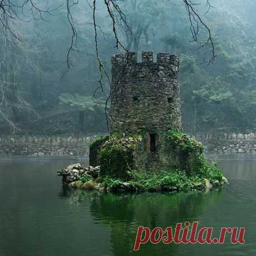
[[[196,134],[206,153],[256,153],[256,134]],[[76,136],[2,136],[0,156],[85,156],[89,144],[99,135]]]

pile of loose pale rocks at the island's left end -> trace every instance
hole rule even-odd
[[[100,166],[85,167],[81,164],[72,164],[67,166],[66,169],[58,170],[57,175],[62,176],[62,183],[68,185],[74,181],[81,180],[83,176],[91,176],[92,179],[97,179],[100,173]]]

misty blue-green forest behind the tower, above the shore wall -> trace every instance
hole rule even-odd
[[[45,0],[35,5],[26,1],[22,7],[19,2],[24,1],[14,1],[13,12],[6,14],[3,4],[10,2],[0,3],[2,133],[106,132],[111,56],[124,49],[180,57],[185,131],[254,130],[253,0],[201,0],[193,5],[210,29],[214,45],[209,38],[208,44],[200,43],[208,30],[199,24],[199,30],[193,31],[186,1],[114,1],[122,22],[120,13],[109,12],[106,1]]]

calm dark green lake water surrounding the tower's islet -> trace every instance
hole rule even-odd
[[[234,157],[233,157],[234,159]],[[208,193],[105,194],[62,188],[56,170],[77,160],[0,160],[1,256],[256,255],[256,157],[221,160],[230,185]],[[245,244],[145,244],[137,227],[245,227]]]

